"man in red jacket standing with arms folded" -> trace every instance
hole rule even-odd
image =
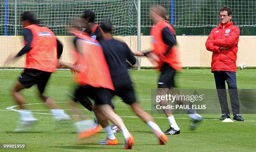
[[[222,116],[220,120],[230,118],[225,81],[228,84],[233,119],[243,121],[239,111],[239,101],[236,86],[236,53],[240,29],[230,21],[232,12],[229,7],[219,11],[219,27],[212,29],[205,43],[206,49],[212,52],[211,71],[214,73],[215,84],[220,101]]]

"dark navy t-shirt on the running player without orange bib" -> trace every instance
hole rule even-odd
[[[115,81],[119,77],[129,77],[127,61],[134,65],[136,58],[127,44],[115,39],[102,41],[100,44],[108,63],[112,80]]]

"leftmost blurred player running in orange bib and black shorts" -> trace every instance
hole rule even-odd
[[[58,108],[53,99],[44,95],[46,84],[51,73],[55,71],[58,58],[61,56],[62,45],[49,28],[37,25],[38,20],[32,13],[22,13],[21,20],[26,45],[16,56],[9,56],[5,62],[8,64],[26,53],[25,70],[12,89],[13,97],[20,107],[20,122],[19,127],[15,129],[16,132],[28,131],[31,129],[29,125],[37,121],[31,111],[23,105],[26,99],[19,93],[20,90],[28,89],[34,84],[37,84],[40,98],[51,109],[56,121],[70,119],[64,110]]]

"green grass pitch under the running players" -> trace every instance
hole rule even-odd
[[[102,131],[94,138],[77,142],[75,129],[72,124],[66,124],[65,128],[57,128],[51,115],[34,114],[38,121],[33,126],[33,131],[28,133],[14,133],[19,119],[15,111],[3,111],[8,106],[16,105],[10,89],[22,71],[0,71],[0,143],[26,143],[26,151],[54,151],[54,152],[77,152],[77,151],[120,151],[123,148],[124,139],[121,133],[115,134],[118,138],[117,146],[97,145],[98,141],[105,139]],[[151,99],[151,89],[156,88],[158,73],[154,70],[130,71],[136,89],[138,99]],[[182,89],[215,89],[213,74],[210,69],[184,69],[177,74],[178,88]],[[256,69],[238,70],[237,72],[238,89],[256,89]],[[67,94],[73,92],[72,74],[70,71],[56,71],[51,76],[46,88],[46,95],[52,96],[56,101],[67,101]],[[38,98],[36,86],[25,89],[21,93],[28,100],[28,104],[42,103]],[[181,134],[168,136],[167,145],[159,146],[158,140],[151,130],[139,118],[127,118],[135,116],[129,107],[123,104],[119,98],[114,98],[113,103],[127,128],[134,136],[136,151],[255,151],[256,137],[256,115],[243,114],[245,120],[251,122],[222,123],[218,119],[220,114],[203,114],[206,118],[205,123],[201,124],[195,131],[189,130],[190,120],[186,114],[176,114],[176,122],[181,129]],[[150,109],[150,100],[139,101],[144,109]],[[218,101],[216,101],[218,102]],[[63,109],[68,109],[65,103],[59,103]],[[49,113],[44,104],[28,105],[31,110],[39,113]],[[17,109],[17,108],[15,108]],[[81,106],[81,109],[82,108]],[[45,111],[42,111],[45,110]],[[92,115],[87,110],[83,110],[85,115]],[[150,110],[146,110],[150,113]],[[70,114],[70,111],[67,110]],[[153,114],[160,128],[165,131],[169,125],[164,114]],[[92,118],[92,117],[91,117]],[[207,119],[208,118],[208,119]],[[209,119],[210,118],[210,119]],[[233,118],[233,117],[232,117]],[[4,150],[4,149],[0,149]],[[15,151],[9,150],[9,151]]]

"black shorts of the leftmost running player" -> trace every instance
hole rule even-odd
[[[24,72],[20,75],[18,81],[26,89],[30,88],[34,84],[37,84],[40,94],[43,94],[50,76],[51,72],[41,71],[33,68],[26,68]]]

